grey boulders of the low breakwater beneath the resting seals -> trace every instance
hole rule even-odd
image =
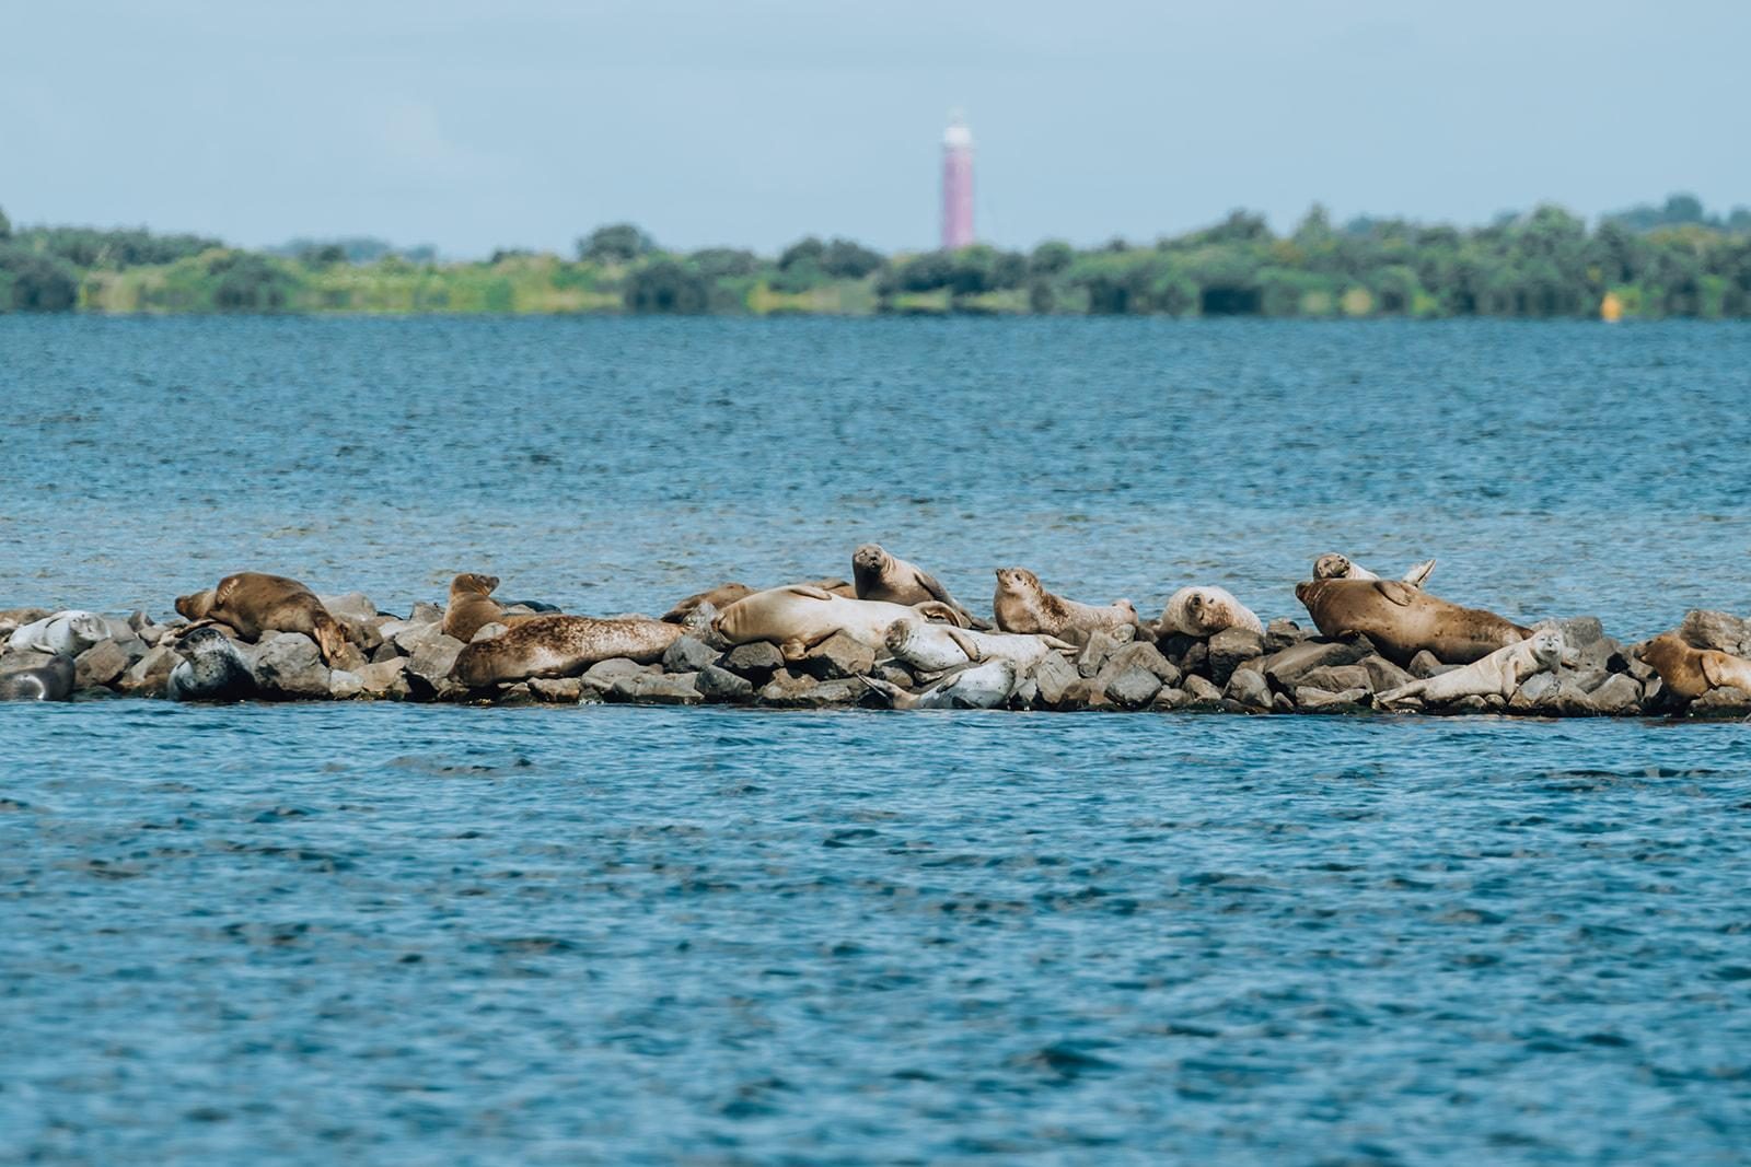
[[[683,635],[657,663],[599,661],[574,677],[531,679],[468,691],[450,679],[462,642],[445,635],[443,609],[417,604],[410,614],[378,612],[361,593],[322,597],[345,623],[352,644],[324,661],[303,633],[263,633],[238,644],[264,700],[411,700],[471,703],[762,705],[770,709],[886,707],[890,698],[870,677],[909,693],[930,688],[921,677],[867,644],[835,635],[786,661],[767,642],[728,647],[711,633]],[[0,612],[0,675],[40,667],[47,653],[14,647],[5,637],[49,618],[46,609]],[[103,616],[107,637],[75,642],[75,689],[82,696],[165,696],[180,656],[172,632],[145,612]],[[1429,707],[1438,714],[1578,716],[1744,716],[1751,695],[1714,689],[1683,702],[1595,618],[1548,621],[1564,633],[1569,656],[1555,672],[1529,677],[1513,696],[1467,696]],[[476,639],[503,628],[483,628]],[[1723,612],[1690,612],[1679,633],[1697,647],[1751,656],[1751,621]],[[1262,633],[1227,628],[1208,639],[1180,633],[1150,640],[1121,628],[1096,632],[1073,654],[1049,654],[1017,677],[1005,705],[1044,710],[1206,710],[1241,714],[1354,714],[1373,710],[1376,693],[1453,668],[1427,653],[1399,668],[1362,637],[1324,639],[1289,619]],[[1411,709],[1418,709],[1411,702]]]

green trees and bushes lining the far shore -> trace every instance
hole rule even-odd
[[[252,252],[145,229],[12,227],[0,213],[0,311],[674,313],[1168,317],[1751,317],[1751,210],[1676,194],[1597,227],[1558,208],[1485,227],[1313,206],[1289,234],[1261,215],[1156,243],[1031,252],[974,245],[883,255],[805,238],[776,257],[669,252],[630,224],[573,257],[440,262],[380,240]]]

